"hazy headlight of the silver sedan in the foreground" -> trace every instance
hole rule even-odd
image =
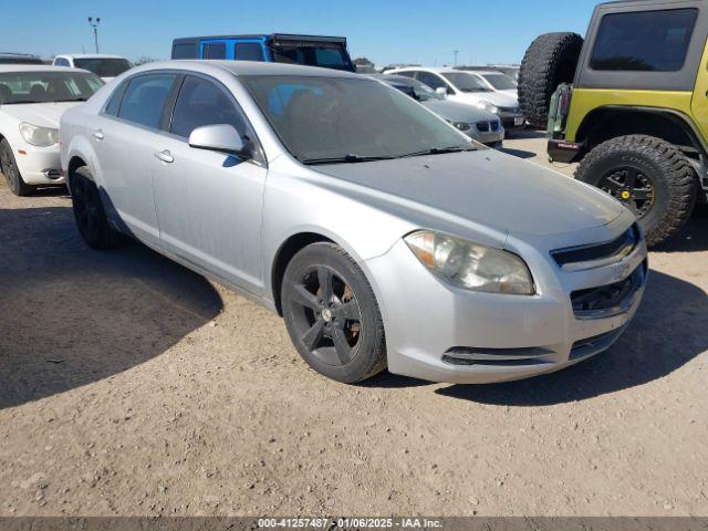
[[[535,293],[529,268],[511,252],[429,230],[413,232],[405,241],[425,267],[455,287],[483,293]]]

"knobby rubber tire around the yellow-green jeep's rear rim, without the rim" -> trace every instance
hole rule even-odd
[[[592,149],[575,178],[593,186],[616,169],[634,167],[654,187],[649,210],[639,219],[649,247],[668,240],[688,221],[697,198],[698,178],[688,158],[673,144],[646,135],[613,138]]]

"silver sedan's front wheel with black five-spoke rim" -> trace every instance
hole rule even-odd
[[[298,252],[285,269],[281,302],[290,339],[320,374],[353,384],[386,368],[376,296],[339,246],[313,243]]]

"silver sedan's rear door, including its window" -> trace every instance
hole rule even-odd
[[[114,92],[90,132],[108,208],[148,242],[159,241],[152,173],[166,102],[177,79],[173,72],[131,77]]]

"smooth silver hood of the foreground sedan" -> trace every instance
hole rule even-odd
[[[493,149],[313,169],[394,196],[388,200],[398,202],[392,205],[398,212],[396,198],[416,214],[452,215],[518,236],[602,227],[624,211],[596,188]]]

